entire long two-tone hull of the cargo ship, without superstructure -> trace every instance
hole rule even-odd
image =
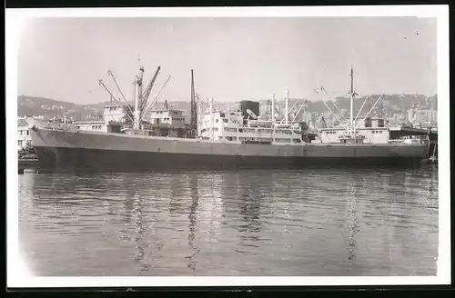
[[[410,166],[427,147],[399,145],[272,145],[197,142],[125,134],[32,131],[41,169],[153,171],[158,169]]]

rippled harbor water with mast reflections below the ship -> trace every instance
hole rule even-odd
[[[19,242],[45,276],[435,275],[438,171],[18,176]]]

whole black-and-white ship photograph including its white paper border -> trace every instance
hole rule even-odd
[[[357,8],[7,10],[8,285],[450,283],[448,7]]]

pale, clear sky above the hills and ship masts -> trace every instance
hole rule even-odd
[[[350,65],[358,94],[437,92],[436,18],[217,17],[35,18],[20,36],[18,94],[76,104],[109,100],[103,79],[128,100],[140,65],[152,94],[190,98],[190,70],[202,99],[232,102],[347,94]],[[327,98],[327,97],[326,97]]]

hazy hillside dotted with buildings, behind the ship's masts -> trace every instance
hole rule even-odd
[[[369,111],[374,102],[379,98],[379,94],[372,94],[369,96],[369,100],[364,105],[362,114]],[[354,102],[354,111],[357,114],[360,106],[363,104],[365,97],[356,98]],[[372,114],[383,115],[388,117],[393,114],[406,114],[410,108],[414,109],[430,109],[431,102],[435,100],[437,102],[437,95],[426,97],[421,94],[385,94],[379,103],[375,106]],[[267,100],[261,100],[266,102]],[[291,99],[290,102],[294,102],[296,99]],[[337,97],[335,102],[343,114],[349,113],[349,97]],[[437,104],[433,104],[433,107],[437,109]],[[20,95],[17,97],[17,114],[19,116],[31,116],[31,115],[42,115],[45,119],[52,119],[53,117],[72,118],[75,121],[82,120],[96,120],[101,119],[103,114],[103,106],[106,103],[99,104],[72,104],[64,101],[58,101],[55,99]],[[133,104],[133,103],[130,103]],[[170,106],[174,108],[184,110],[187,116],[189,115],[189,101],[175,101],[169,102]],[[215,102],[215,106],[227,106],[225,103]],[[236,103],[229,103],[230,107],[234,107]],[[278,105],[283,105],[282,100],[278,99]],[[289,104],[289,107],[292,104]],[[159,106],[164,106],[164,101],[159,102]],[[330,108],[336,112],[335,106],[329,102]],[[307,112],[327,113],[328,108],[322,101],[308,102]]]

